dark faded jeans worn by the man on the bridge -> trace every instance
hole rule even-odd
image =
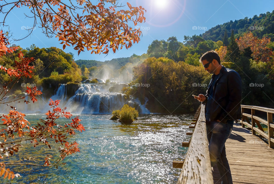
[[[211,167],[217,163],[223,184],[232,184],[232,177],[225,154],[225,141],[232,131],[231,120],[227,123],[211,121],[206,125],[207,140],[209,142],[209,155]]]

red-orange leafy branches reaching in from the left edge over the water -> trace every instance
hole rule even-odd
[[[5,38],[2,30],[0,31],[0,57],[4,56],[6,53],[13,52],[17,47],[8,48],[7,38]],[[9,92],[13,85],[21,77],[31,78],[33,75],[33,66],[29,64],[34,60],[34,58],[25,58],[20,52],[18,54],[19,61],[15,61],[12,68],[5,68],[0,66],[2,72],[9,75],[9,82],[3,85],[0,89],[0,105],[8,106],[12,110],[8,114],[0,115],[1,120],[1,148],[0,148],[0,175],[4,178],[13,179],[14,177],[20,176],[20,174],[14,174],[6,165],[20,165],[24,163],[11,163],[9,162],[9,157],[13,156],[15,153],[18,154],[21,148],[20,142],[30,141],[34,147],[38,144],[44,144],[49,149],[51,149],[51,143],[59,143],[62,147],[59,148],[59,157],[55,158],[51,163],[50,160],[53,159],[52,155],[45,155],[45,159],[40,163],[27,163],[28,165],[41,165],[41,166],[55,166],[61,164],[66,156],[79,152],[78,144],[76,142],[68,142],[67,136],[74,135],[75,130],[82,132],[84,129],[83,125],[80,124],[80,119],[78,116],[72,118],[70,123],[57,124],[57,119],[64,117],[70,119],[72,115],[70,112],[66,111],[66,107],[61,109],[59,107],[59,100],[49,102],[50,109],[45,115],[45,119],[40,119],[35,125],[31,125],[28,120],[25,119],[25,114],[16,111],[16,107],[11,106],[11,103],[24,101],[24,103],[29,103],[26,97],[30,98],[33,103],[37,101],[36,97],[41,95],[41,91],[37,90],[37,87],[32,89],[27,87],[26,95],[24,97],[17,97],[10,99],[8,97]],[[51,141],[50,141],[51,140]],[[42,163],[43,162],[43,163]]]

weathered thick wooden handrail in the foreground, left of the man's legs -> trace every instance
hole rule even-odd
[[[197,122],[177,184],[213,184],[213,175],[206,136],[206,118],[204,105],[201,105],[199,109],[200,113],[197,117]]]

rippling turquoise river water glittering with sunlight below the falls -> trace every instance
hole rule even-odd
[[[26,115],[37,122],[43,114]],[[80,115],[86,131],[76,132],[71,140],[80,152],[65,158],[66,165],[55,167],[7,166],[21,177],[4,183],[176,183],[180,169],[172,160],[184,159],[187,148],[182,141],[193,115],[140,115],[130,125],[110,120],[111,115]],[[64,120],[59,120],[59,123]],[[61,124],[61,123],[60,123]],[[10,157],[15,163],[42,163],[38,159],[52,153],[44,145],[33,148],[22,142],[19,154]],[[54,146],[52,146],[54,148]],[[3,178],[2,178],[3,179]]]

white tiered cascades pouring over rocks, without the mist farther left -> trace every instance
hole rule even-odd
[[[126,99],[126,95],[117,92],[109,92],[114,85],[126,85],[124,83],[87,83],[81,84],[75,94],[66,100],[66,85],[62,84],[56,94],[51,97],[53,100],[61,100],[61,105],[68,108],[71,113],[82,114],[109,114],[114,110],[128,104],[135,107],[139,113],[148,114],[145,104],[141,105],[138,99]],[[63,102],[62,102],[63,101]]]

